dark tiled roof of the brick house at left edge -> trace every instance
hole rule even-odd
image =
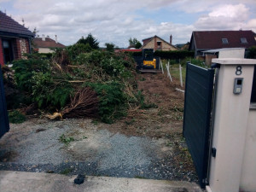
[[[0,32],[15,33],[18,35],[33,37],[34,34],[25,26],[21,26],[17,21],[0,11]]]

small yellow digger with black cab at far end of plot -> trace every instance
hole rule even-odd
[[[143,68],[156,68],[156,59],[154,59],[154,49],[143,49]]]

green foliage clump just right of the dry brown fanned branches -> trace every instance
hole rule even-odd
[[[107,82],[106,84],[88,83],[100,99],[99,115],[104,123],[113,123],[125,115],[126,96],[123,91],[123,85],[119,82]]]

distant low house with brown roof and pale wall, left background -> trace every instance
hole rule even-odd
[[[52,53],[54,52],[53,49],[55,48],[65,48],[66,46],[64,44],[60,44],[57,40],[57,36],[55,35],[55,40],[52,38],[49,38],[47,36],[45,38],[44,35],[42,35],[42,38],[34,38],[33,39],[33,48],[38,51],[38,53]]]

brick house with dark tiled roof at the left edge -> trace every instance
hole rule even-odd
[[[25,58],[31,53],[31,39],[34,34],[10,16],[0,11],[0,64]]]

